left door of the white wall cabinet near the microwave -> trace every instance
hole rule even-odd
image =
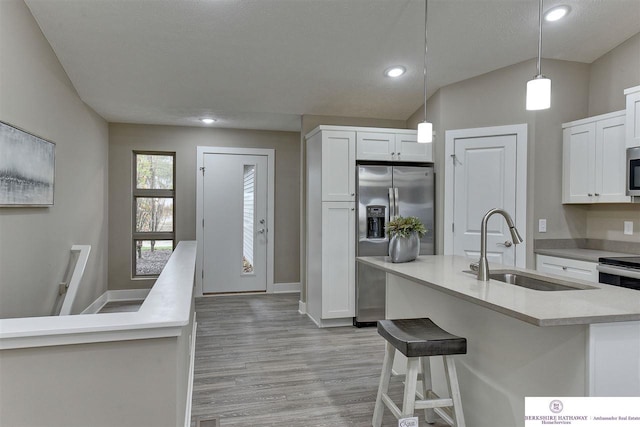
[[[592,203],[595,193],[595,123],[563,132],[562,203]]]

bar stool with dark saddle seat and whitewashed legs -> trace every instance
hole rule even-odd
[[[451,335],[431,319],[401,319],[378,321],[378,333],[387,341],[378,397],[373,411],[373,427],[382,425],[382,413],[386,405],[397,418],[413,416],[414,410],[424,409],[428,423],[435,422],[437,413],[454,427],[465,427],[460,401],[460,388],[454,354],[466,354],[467,340]],[[387,394],[392,376],[396,350],[407,357],[407,374],[404,383],[402,410]],[[442,356],[450,398],[439,397],[432,388],[429,357]],[[422,394],[424,400],[416,400],[418,365],[422,366]]]

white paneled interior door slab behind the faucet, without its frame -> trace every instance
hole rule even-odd
[[[492,208],[516,218],[517,135],[454,140],[453,254],[480,258],[480,224]],[[487,223],[489,262],[516,265],[516,246],[501,215]]]

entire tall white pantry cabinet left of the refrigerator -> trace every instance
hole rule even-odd
[[[355,132],[307,135],[307,315],[321,327],[355,315]]]

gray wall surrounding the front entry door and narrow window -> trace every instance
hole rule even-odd
[[[275,170],[275,283],[300,281],[300,134],[205,127],[109,125],[109,289],[148,288],[131,279],[133,150],[176,152],[176,239],[196,238],[196,147],[272,148]]]

